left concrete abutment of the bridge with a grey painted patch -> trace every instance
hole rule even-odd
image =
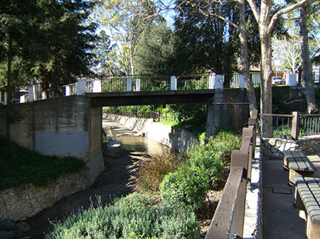
[[[90,187],[102,172],[102,109],[91,108],[87,96],[68,96],[13,104],[16,121],[11,123],[14,143],[44,155],[74,156],[86,162]],[[0,107],[6,115],[6,106]],[[6,135],[6,117],[0,118],[0,135]]]

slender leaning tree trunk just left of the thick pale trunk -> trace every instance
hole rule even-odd
[[[245,29],[245,0],[239,1],[240,5],[240,25],[239,38],[241,43],[242,69],[241,72],[245,77],[245,86],[247,88],[247,99],[249,101],[250,115],[257,109],[257,99],[255,97],[255,88],[253,87],[252,77],[249,70],[249,57],[247,55],[247,32]]]

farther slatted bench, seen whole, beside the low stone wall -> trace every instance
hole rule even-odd
[[[289,169],[289,184],[294,186],[294,177],[314,177],[316,167],[303,151],[284,151],[284,167]]]

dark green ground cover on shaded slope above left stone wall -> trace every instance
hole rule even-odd
[[[0,138],[0,190],[34,184],[45,187],[63,173],[78,172],[85,162],[75,157],[41,155]]]

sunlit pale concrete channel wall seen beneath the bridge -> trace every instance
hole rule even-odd
[[[166,145],[175,150],[188,150],[197,142],[196,135],[171,126],[164,126],[161,123],[153,122],[152,119],[146,118],[128,118],[124,116],[107,115],[103,113],[102,118],[110,118],[110,120],[122,123],[130,130],[141,133],[147,138],[158,143]]]

